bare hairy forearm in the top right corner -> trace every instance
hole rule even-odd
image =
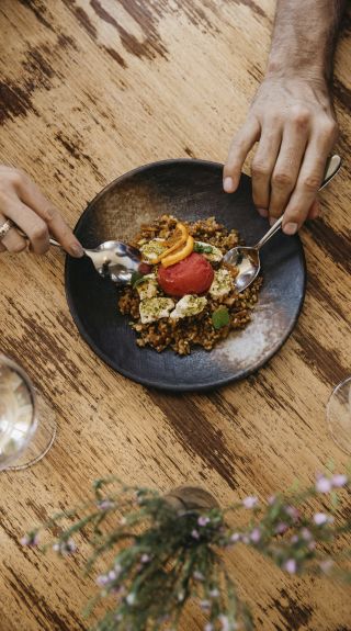
[[[268,76],[329,83],[346,0],[278,0]]]

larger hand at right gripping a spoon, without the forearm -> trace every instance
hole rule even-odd
[[[235,135],[224,167],[224,190],[234,192],[244,161],[252,160],[252,194],[258,212],[273,224],[283,213],[283,232],[295,234],[319,214],[317,191],[338,135],[331,100],[313,79],[269,76],[247,120]]]

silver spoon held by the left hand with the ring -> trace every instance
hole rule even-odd
[[[52,246],[63,248],[55,239],[50,238],[49,243]],[[133,273],[145,274],[151,269],[141,261],[137,248],[122,241],[104,241],[94,249],[83,248],[83,250],[84,255],[92,260],[97,272],[103,278],[110,278],[114,283],[128,283]]]

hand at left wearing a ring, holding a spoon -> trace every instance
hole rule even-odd
[[[10,219],[15,224],[0,240],[0,252],[20,252],[27,246],[18,227],[29,237],[31,249],[43,255],[53,235],[72,257],[83,249],[59,212],[22,170],[0,165],[0,228]]]

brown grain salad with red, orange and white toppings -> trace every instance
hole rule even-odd
[[[132,245],[149,269],[118,290],[117,301],[120,312],[131,318],[136,343],[189,354],[195,346],[211,350],[230,331],[245,328],[262,278],[237,293],[237,270],[223,257],[239,244],[238,232],[214,217],[180,223],[162,215],[143,225]]]

